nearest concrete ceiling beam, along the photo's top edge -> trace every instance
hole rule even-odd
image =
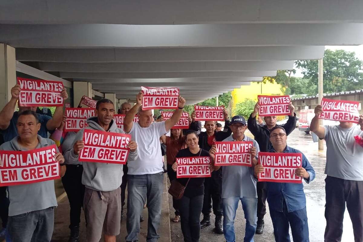
[[[191,11],[192,9],[192,11]],[[363,22],[360,0],[1,1],[7,24],[206,24]]]

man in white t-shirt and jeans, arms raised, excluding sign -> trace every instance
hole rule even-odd
[[[166,134],[178,123],[183,112],[185,99],[179,96],[178,109],[170,119],[153,122],[151,110],[142,110],[143,94],[136,95],[136,104],[127,112],[123,128],[131,134],[138,144],[138,159],[127,164],[127,236],[126,241],[138,241],[140,233],[140,215],[147,200],[148,227],[147,242],[157,241],[160,225],[163,196],[163,157],[161,155],[160,136]],[[139,122],[132,120],[138,114]]]

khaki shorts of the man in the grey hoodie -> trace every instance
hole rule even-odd
[[[103,199],[101,199],[103,196]],[[86,188],[83,199],[87,242],[98,242],[103,233],[118,235],[121,223],[121,188],[99,192]]]

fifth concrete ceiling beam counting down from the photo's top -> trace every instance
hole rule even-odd
[[[143,73],[89,73],[60,72],[62,78],[183,78],[183,77],[266,77],[275,76],[277,71],[199,71],[199,72],[143,72]]]

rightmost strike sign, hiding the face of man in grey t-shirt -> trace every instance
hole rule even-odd
[[[323,112],[319,115],[319,119],[351,123],[359,122],[359,102],[323,98],[321,106]]]

